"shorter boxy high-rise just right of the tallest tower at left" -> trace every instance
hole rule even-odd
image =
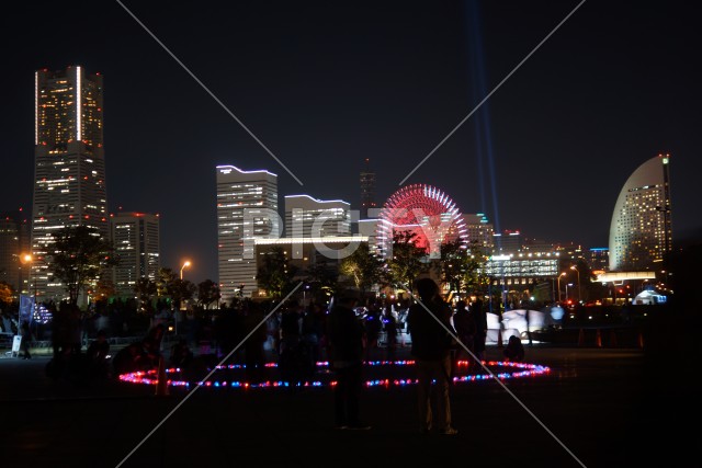
[[[117,213],[110,216],[112,242],[120,263],[114,267],[114,287],[121,297],[134,297],[136,282],[156,281],[160,261],[159,216]]]

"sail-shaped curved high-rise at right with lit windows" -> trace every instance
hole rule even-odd
[[[610,225],[610,271],[655,270],[672,250],[670,156],[638,167],[622,187]]]

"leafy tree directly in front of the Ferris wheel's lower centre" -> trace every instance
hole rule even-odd
[[[395,287],[411,289],[417,276],[424,273],[427,251],[417,247],[417,233],[408,230],[393,233],[393,256],[386,263],[386,282]]]

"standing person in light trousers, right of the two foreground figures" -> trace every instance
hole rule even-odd
[[[419,402],[419,427],[428,433],[434,422],[440,434],[458,433],[451,425],[451,308],[440,296],[439,285],[431,278],[416,283],[420,304],[409,308],[407,324],[412,340],[411,355],[417,361],[417,396]],[[432,392],[432,380],[435,391]],[[435,407],[435,421],[432,406]]]

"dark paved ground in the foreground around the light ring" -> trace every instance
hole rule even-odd
[[[487,358],[500,353],[488,346]],[[43,372],[47,357],[1,359],[2,460],[116,467],[162,422],[122,466],[609,467],[648,466],[663,453],[676,466],[690,450],[676,413],[687,392],[658,385],[645,357],[636,347],[528,346],[526,361],[551,372],[503,380],[506,388],[455,385],[453,437],[418,433],[414,386],[367,388],[362,412],[373,429],[336,431],[330,388],[173,388],[157,397],[151,386],[55,383]],[[673,442],[661,445],[661,431]]]

